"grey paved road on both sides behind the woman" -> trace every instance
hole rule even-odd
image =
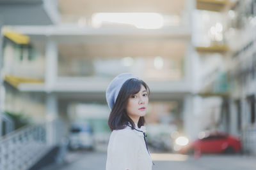
[[[202,155],[200,158],[170,153],[152,153],[155,166],[152,170],[255,170],[256,157],[243,155]],[[106,152],[68,153],[67,163],[44,170],[104,170]]]

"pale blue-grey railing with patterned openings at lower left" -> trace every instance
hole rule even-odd
[[[47,152],[45,125],[30,125],[0,139],[0,169],[29,169]]]

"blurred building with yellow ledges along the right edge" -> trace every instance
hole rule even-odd
[[[255,154],[255,1],[204,5],[197,1],[198,8],[210,10],[197,14],[197,30],[211,41],[202,38],[207,46],[196,48],[202,69],[198,124],[240,136],[243,151]]]

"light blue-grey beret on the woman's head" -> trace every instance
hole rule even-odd
[[[134,76],[131,73],[122,73],[116,76],[108,85],[108,88],[106,90],[106,99],[108,106],[110,110],[112,110],[113,106],[115,105],[116,98],[119,94],[120,89],[122,88],[122,85],[125,83],[125,81],[136,78],[140,80],[140,78]]]

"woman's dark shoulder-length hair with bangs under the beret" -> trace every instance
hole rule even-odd
[[[125,108],[127,106],[129,97],[140,92],[141,85],[145,87],[149,96],[150,90],[148,88],[148,85],[143,80],[131,78],[125,81],[125,83],[122,85],[122,88],[120,89],[120,92],[116,98],[115,104],[108,118],[108,126],[111,131],[117,129],[124,129],[129,123],[132,125],[132,129],[135,128],[135,124],[132,119],[127,115]],[[145,118],[140,117],[138,127],[140,128],[144,124]]]

